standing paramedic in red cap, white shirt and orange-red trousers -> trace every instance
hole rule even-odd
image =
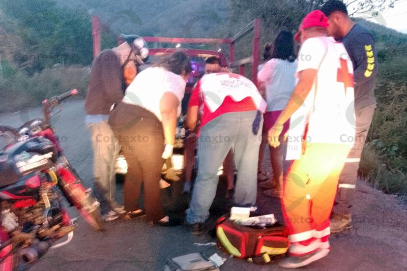
[[[283,124],[290,118],[289,136],[306,139],[303,147],[301,142],[297,148],[287,147],[295,161],[285,176],[282,198],[290,240],[288,257],[280,262],[285,268],[307,265],[330,252],[329,217],[351,149],[341,136],[355,133],[353,65],[343,44],[328,37],[327,27],[328,18],[320,10],[303,19],[295,36],[301,43],[298,83],[269,131],[270,145],[278,146]]]

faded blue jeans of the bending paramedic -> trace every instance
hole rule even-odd
[[[253,206],[257,196],[257,162],[263,114],[259,111],[222,114],[202,127],[198,138],[198,175],[187,210],[187,223],[203,223],[216,195],[218,169],[229,149],[238,171],[235,202]]]

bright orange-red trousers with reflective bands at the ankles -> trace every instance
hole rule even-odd
[[[307,143],[305,154],[288,169],[281,201],[290,256],[330,249],[329,218],[350,148],[346,144]]]

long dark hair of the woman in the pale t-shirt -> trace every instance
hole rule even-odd
[[[289,31],[281,31],[274,41],[273,53],[271,58],[279,58],[294,62],[296,56],[294,54],[294,37]]]

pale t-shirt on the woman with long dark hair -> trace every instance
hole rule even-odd
[[[270,59],[258,72],[258,80],[266,84],[267,111],[283,110],[296,84],[298,62]]]

